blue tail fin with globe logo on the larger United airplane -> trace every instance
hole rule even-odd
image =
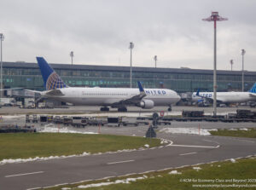
[[[49,66],[43,57],[37,57],[37,60],[42,77],[44,79],[44,87],[46,90],[62,89],[68,87],[67,84],[62,81],[60,76]]]

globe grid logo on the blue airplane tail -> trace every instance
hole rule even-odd
[[[67,84],[64,83],[56,72],[52,72],[46,82],[46,89],[62,89],[66,88]]]

